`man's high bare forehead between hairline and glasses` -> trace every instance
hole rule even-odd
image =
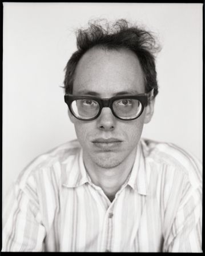
[[[75,70],[73,93],[90,91],[103,97],[122,91],[143,93],[143,72],[136,54],[127,49],[86,52]]]

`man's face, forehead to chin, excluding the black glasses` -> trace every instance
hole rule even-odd
[[[74,95],[93,93],[101,98],[110,98],[120,93],[144,92],[142,69],[130,50],[93,48],[77,65]],[[108,107],[104,107],[101,115],[92,121],[78,120],[70,113],[83,147],[83,158],[103,168],[118,166],[135,151],[143,124],[151,119],[152,107],[148,105],[138,119],[129,121],[117,119]]]

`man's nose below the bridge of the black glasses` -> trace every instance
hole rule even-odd
[[[98,117],[98,127],[99,129],[104,129],[104,131],[110,131],[115,128],[116,118],[112,114],[110,108],[102,108],[101,115]]]

